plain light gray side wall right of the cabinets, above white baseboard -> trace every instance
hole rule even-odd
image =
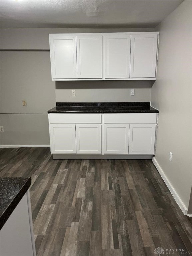
[[[155,158],[187,209],[192,184],[191,13],[192,2],[184,1],[157,28],[158,70],[151,90],[151,105],[160,111]]]

